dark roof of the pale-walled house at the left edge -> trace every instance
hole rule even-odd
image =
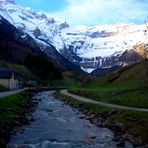
[[[12,77],[13,71],[7,68],[0,68],[0,78],[10,79]]]

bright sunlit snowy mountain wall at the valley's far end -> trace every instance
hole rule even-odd
[[[134,45],[146,43],[145,25],[123,24],[94,27],[69,27],[62,30],[61,38],[65,49],[61,48],[60,40],[55,44],[63,55],[70,52],[73,62],[83,68],[93,69],[128,64],[119,60]]]

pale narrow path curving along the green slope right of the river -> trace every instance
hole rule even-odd
[[[104,106],[104,107],[148,112],[148,109],[144,109],[144,108],[127,107],[127,106],[121,106],[121,105],[116,105],[116,104],[109,104],[109,103],[94,101],[94,100],[91,100],[91,99],[88,99],[88,98],[85,98],[85,97],[81,97],[81,96],[78,96],[78,95],[71,94],[67,91],[67,89],[61,90],[60,93],[62,93],[63,95],[66,95],[66,96],[70,96],[70,97],[77,99],[79,101],[82,101],[82,102],[92,103],[92,104],[96,104],[96,105],[100,105],[100,106]]]

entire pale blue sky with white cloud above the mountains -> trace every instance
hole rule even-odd
[[[148,16],[148,0],[16,0],[35,11],[46,12],[71,25],[143,24]]]

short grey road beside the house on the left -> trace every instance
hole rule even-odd
[[[20,92],[23,92],[27,90],[27,88],[23,88],[23,89],[17,89],[17,90],[12,90],[12,91],[6,91],[6,92],[0,92],[0,99],[7,97],[7,96],[11,96]]]

